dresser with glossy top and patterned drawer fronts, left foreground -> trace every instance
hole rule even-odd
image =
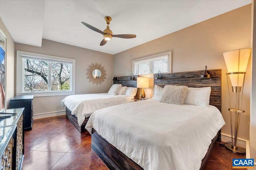
[[[21,170],[24,157],[24,108],[0,112],[0,168]],[[8,118],[2,118],[8,116]]]

